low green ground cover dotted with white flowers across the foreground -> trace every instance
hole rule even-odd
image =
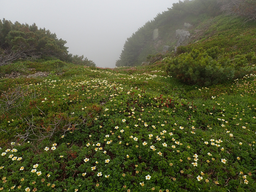
[[[0,190],[254,191],[256,76],[198,87],[165,67],[1,79]]]

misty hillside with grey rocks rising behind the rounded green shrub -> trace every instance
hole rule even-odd
[[[147,62],[148,55],[164,53],[166,50],[175,52],[180,45],[198,41],[204,42],[203,47],[207,49],[212,46],[207,40],[216,36],[223,37],[213,40],[225,47],[226,51],[255,51],[250,39],[254,41],[256,23],[253,19],[245,22],[247,18],[237,17],[238,14],[227,16],[220,8],[228,2],[229,0],[192,0],[173,4],[171,9],[158,14],[153,21],[147,22],[127,39],[116,66],[138,66]],[[238,37],[241,35],[243,38]],[[246,40],[245,44],[242,39]],[[228,43],[225,43],[226,40]]]

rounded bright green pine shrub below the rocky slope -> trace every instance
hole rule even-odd
[[[168,75],[186,84],[212,85],[255,72],[255,53],[230,58],[229,55],[221,55],[221,52],[218,47],[213,47],[206,51],[193,49],[183,53],[168,61]]]

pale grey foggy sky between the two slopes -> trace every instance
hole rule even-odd
[[[100,67],[114,67],[123,45],[138,28],[178,0],[2,0],[0,19],[56,33],[69,53]]]

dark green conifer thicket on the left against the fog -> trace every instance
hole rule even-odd
[[[0,20],[0,65],[10,64],[17,59],[36,59],[52,57],[62,61],[86,66],[95,63],[83,56],[68,54],[67,42],[58,39],[55,33],[36,24],[14,24],[6,19]]]

